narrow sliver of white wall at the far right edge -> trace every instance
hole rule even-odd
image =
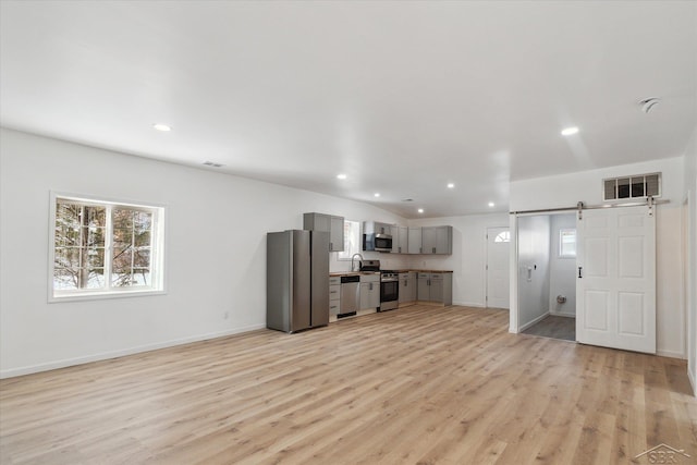
[[[687,297],[687,371],[697,395],[697,127],[685,152],[684,183],[683,200],[687,200],[687,250],[683,252],[683,259],[687,259],[687,290],[684,293]]]

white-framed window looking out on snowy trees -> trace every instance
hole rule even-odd
[[[163,291],[162,207],[53,194],[51,301]]]

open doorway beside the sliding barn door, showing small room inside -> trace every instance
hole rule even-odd
[[[576,341],[576,215],[522,216],[517,233],[519,332]]]

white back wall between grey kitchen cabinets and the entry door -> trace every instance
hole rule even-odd
[[[487,228],[508,228],[508,213],[467,215],[408,221],[411,227],[452,225],[453,254],[412,255],[409,266],[453,270],[453,304],[486,307]]]

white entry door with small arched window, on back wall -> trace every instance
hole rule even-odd
[[[508,228],[487,229],[487,307],[510,308],[509,253],[511,234]]]

